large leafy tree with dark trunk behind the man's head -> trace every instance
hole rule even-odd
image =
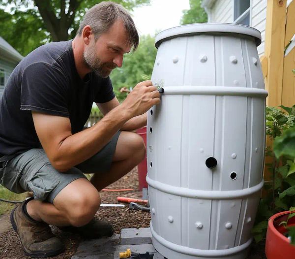
[[[85,12],[101,1],[0,0],[1,36],[25,56],[44,43],[73,38]],[[113,1],[133,10],[150,0]]]

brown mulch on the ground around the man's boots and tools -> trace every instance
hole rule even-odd
[[[108,186],[107,189],[134,189],[132,192],[101,192],[102,203],[118,203],[117,196],[141,198],[138,192],[137,168],[134,168],[117,182]],[[116,233],[120,233],[121,228],[149,227],[150,214],[148,212],[134,211],[125,207],[101,207],[96,215],[98,219],[110,221]],[[83,239],[77,234],[61,232],[57,227],[52,227],[53,233],[65,244],[65,252],[51,259],[70,259],[77,250],[79,243]],[[18,235],[9,229],[0,233],[0,258],[1,259],[30,259],[25,256]]]

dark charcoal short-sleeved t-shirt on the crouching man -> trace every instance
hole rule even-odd
[[[76,70],[72,40],[43,45],[13,70],[0,98],[0,160],[40,148],[31,111],[68,117],[72,134],[83,129],[92,103],[115,97],[109,77]]]

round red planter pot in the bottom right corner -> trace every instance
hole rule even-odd
[[[287,221],[290,211],[284,211],[273,215],[267,226],[266,233],[266,257],[267,259],[283,259],[295,257],[295,246],[284,236],[287,229],[280,223]],[[295,217],[288,222],[288,227],[295,226]]]

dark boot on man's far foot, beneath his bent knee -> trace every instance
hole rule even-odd
[[[93,219],[82,227],[59,227],[64,232],[77,233],[84,239],[100,238],[103,236],[110,237],[114,234],[114,227],[111,223],[104,220]]]

